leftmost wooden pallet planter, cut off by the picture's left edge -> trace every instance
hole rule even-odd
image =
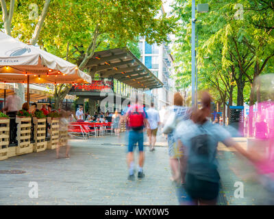
[[[0,118],[0,160],[8,159],[8,145],[10,143],[10,119]]]

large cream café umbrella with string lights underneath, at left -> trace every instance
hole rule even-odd
[[[75,64],[0,31],[0,81],[14,83],[91,83]]]

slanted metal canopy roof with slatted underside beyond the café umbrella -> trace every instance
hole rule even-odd
[[[114,77],[133,88],[162,88],[164,85],[127,47],[96,52],[87,67],[91,75]]]

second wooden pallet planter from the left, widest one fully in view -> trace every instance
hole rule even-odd
[[[34,151],[33,145],[30,143],[32,131],[32,118],[30,117],[16,117],[18,146],[16,146],[16,155],[23,155],[25,153],[32,153]]]

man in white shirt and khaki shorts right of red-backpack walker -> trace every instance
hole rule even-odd
[[[154,151],[157,131],[160,126],[160,116],[158,111],[154,109],[154,103],[151,103],[151,107],[147,110],[147,120],[150,127],[147,129],[147,136],[149,137],[149,151]]]

